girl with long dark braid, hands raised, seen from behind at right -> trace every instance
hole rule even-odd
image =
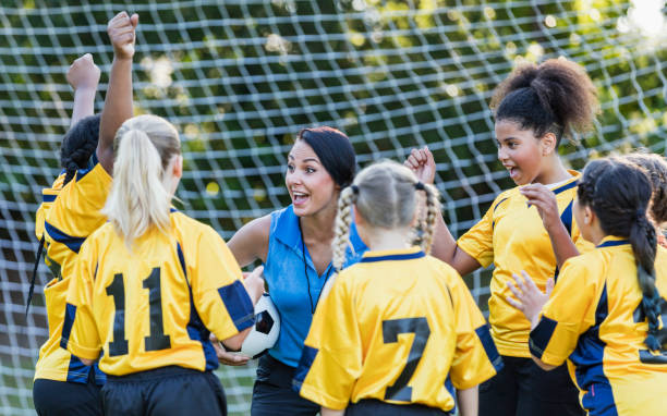
[[[574,216],[592,252],[570,258],[550,297],[514,276],[508,302],[531,322],[533,359],[566,359],[589,415],[663,415],[667,408],[667,250],[646,217],[651,182],[621,158],[590,162]]]

